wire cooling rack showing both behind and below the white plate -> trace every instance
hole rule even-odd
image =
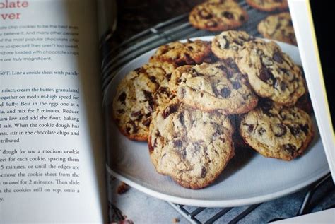
[[[256,9],[249,6],[245,0],[239,1],[240,6],[245,8],[249,15],[249,20],[242,25],[237,30],[244,30],[249,35],[260,36],[257,31],[257,24],[260,20],[264,19],[266,16],[269,16],[269,13],[264,13],[257,11]],[[109,41],[112,38],[110,33],[106,33],[100,42],[100,48],[102,50],[102,90],[105,95],[105,90],[108,84],[112,81],[115,74],[129,61],[135,59],[136,57],[141,56],[151,49],[155,49],[160,45],[164,45],[168,42],[176,40],[184,40],[192,37],[203,37],[208,35],[217,35],[218,32],[209,32],[206,30],[198,30],[194,28],[188,21],[188,13],[181,16],[177,16],[170,20],[167,20],[163,23],[143,30],[143,32],[134,35],[133,37],[125,40],[120,43],[117,47],[111,48]],[[293,216],[300,216],[302,214],[308,213],[315,207],[315,204],[311,204],[310,201],[312,196],[315,194],[319,188],[321,188],[327,181],[331,182],[331,175],[328,174],[322,179],[319,179],[314,184],[311,184],[309,187],[305,188],[303,191],[306,191],[305,195],[300,196],[302,198],[300,208],[296,214]],[[331,189],[323,192],[323,196],[327,197],[329,191],[333,190],[334,185],[331,184]],[[244,220],[250,213],[255,211],[261,204],[254,204],[251,206],[240,206],[234,208],[202,208],[202,207],[193,207],[193,206],[184,206],[180,204],[170,203],[172,208],[175,208],[184,218],[189,220],[191,223],[237,223],[241,220]],[[334,207],[334,204],[328,206],[327,208]],[[325,209],[325,208],[322,208]],[[233,216],[228,216],[230,213],[233,213]],[[230,220],[227,220],[225,216],[228,216]],[[290,216],[290,217],[293,217]],[[288,217],[278,217],[274,220],[280,220],[282,218]],[[223,221],[224,220],[224,221]],[[271,220],[264,220],[266,222]],[[247,222],[248,223],[248,222]]]

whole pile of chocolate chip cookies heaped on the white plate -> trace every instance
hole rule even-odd
[[[301,155],[313,136],[294,106],[304,94],[300,68],[276,43],[225,31],[159,47],[119,83],[112,107],[124,136],[148,141],[157,172],[199,189],[233,158],[235,136],[266,157]]]

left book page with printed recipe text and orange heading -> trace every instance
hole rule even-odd
[[[1,1],[0,13],[0,223],[101,223],[96,2]]]

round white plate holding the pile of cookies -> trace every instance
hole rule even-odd
[[[199,37],[212,40],[213,37]],[[278,42],[286,52],[301,65],[298,47]],[[145,64],[155,49],[125,65],[107,87],[105,105],[114,97],[117,84],[129,71]],[[110,116],[106,116],[110,118]],[[108,148],[110,153],[107,170],[131,187],[151,196],[178,204],[206,207],[230,207],[257,204],[298,191],[302,187],[329,172],[321,138],[315,123],[315,138],[301,158],[286,162],[264,158],[252,150],[235,148],[235,157],[216,179],[204,189],[192,190],[180,187],[170,177],[159,175],[151,164],[147,143],[130,141],[108,121]]]

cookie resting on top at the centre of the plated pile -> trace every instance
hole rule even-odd
[[[228,62],[178,67],[169,85],[182,102],[205,111],[245,113],[258,100],[245,76]]]

